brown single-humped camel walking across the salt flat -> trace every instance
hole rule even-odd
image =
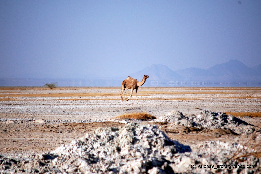
[[[131,76],[128,76],[128,78],[123,80],[123,82],[121,83],[121,100],[123,101],[123,98],[122,98],[123,91],[125,90],[125,88],[128,88],[128,89],[131,89],[131,96],[132,96],[133,90],[136,89],[136,99],[137,99],[137,101],[139,101],[138,96],[137,96],[138,87],[143,85],[146,82],[147,78],[149,78],[149,76],[144,75],[142,81],[138,82],[137,79],[131,78]],[[129,98],[131,98],[131,96],[129,96]],[[129,98],[126,101],[128,101]]]

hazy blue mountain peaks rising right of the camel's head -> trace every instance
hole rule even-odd
[[[149,75],[147,79],[150,85],[173,86],[173,85],[221,85],[229,84],[242,86],[253,85],[260,86],[261,83],[261,64],[250,68],[238,60],[229,60],[226,63],[217,64],[209,69],[185,68],[172,71],[165,65],[151,65],[131,76],[138,77],[143,74]],[[142,78],[142,76],[141,76]],[[138,79],[140,80],[140,79]],[[203,84],[204,85],[204,84]],[[245,86],[244,85],[244,86]]]

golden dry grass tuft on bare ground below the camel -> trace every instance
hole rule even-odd
[[[138,112],[138,113],[130,113],[130,114],[123,114],[117,117],[114,117],[115,119],[134,119],[134,120],[153,120],[156,119],[155,116],[148,114],[146,112]]]

